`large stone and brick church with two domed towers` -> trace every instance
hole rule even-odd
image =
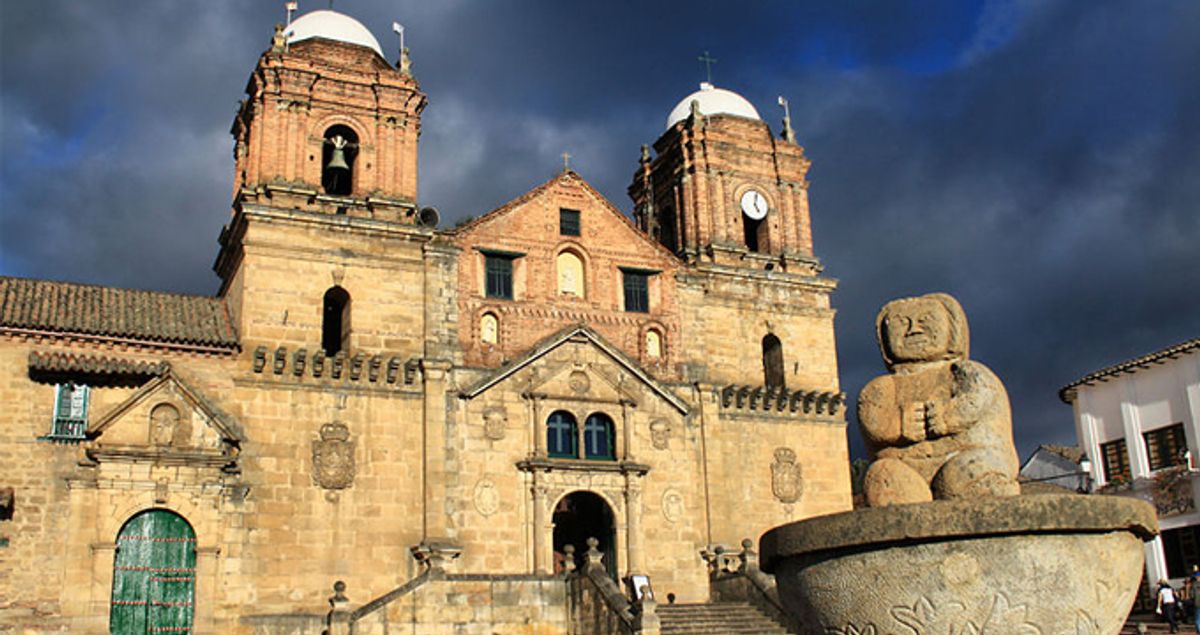
[[[564,169],[439,229],[425,107],[307,13],[233,121],[216,295],[0,278],[0,630],[580,633],[571,570],[703,603],[716,546],[851,507],[788,125],[704,84],[632,218]]]

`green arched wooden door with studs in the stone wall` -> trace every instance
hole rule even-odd
[[[191,633],[196,595],[196,533],[163,510],[133,516],[116,537],[114,634]]]

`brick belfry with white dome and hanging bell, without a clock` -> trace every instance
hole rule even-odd
[[[230,130],[234,206],[419,222],[426,100],[409,66],[407,52],[390,65],[370,30],[335,11],[276,26]]]

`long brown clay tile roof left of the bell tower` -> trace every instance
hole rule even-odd
[[[236,348],[224,300],[0,276],[0,330]]]

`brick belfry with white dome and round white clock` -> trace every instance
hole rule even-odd
[[[689,263],[816,275],[809,160],[740,95],[702,83],[667,116],[629,194],[642,230]]]

